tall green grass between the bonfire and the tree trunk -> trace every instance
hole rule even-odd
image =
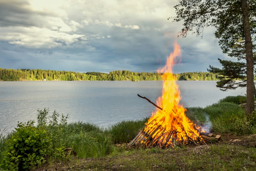
[[[213,132],[256,133],[255,124],[245,117],[244,109],[238,105],[244,102],[246,102],[245,96],[228,96],[205,108],[187,108],[186,115],[193,121],[210,122]]]

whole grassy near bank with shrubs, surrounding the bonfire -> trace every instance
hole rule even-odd
[[[192,121],[220,134],[215,144],[168,149],[133,149],[129,143],[148,118],[122,121],[103,129],[68,123],[68,116],[38,110],[33,121],[0,132],[0,170],[255,170],[256,122],[244,117],[243,96],[227,97],[206,108],[188,108]],[[209,121],[209,122],[206,122]],[[199,122],[200,123],[200,122]],[[65,152],[72,148],[76,156]],[[70,151],[71,153],[71,151]]]

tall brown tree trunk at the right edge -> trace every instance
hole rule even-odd
[[[249,115],[254,112],[254,82],[253,82],[253,57],[252,57],[252,39],[250,32],[250,22],[248,15],[248,7],[246,0],[241,0],[243,28],[246,48],[246,75],[247,75],[247,89],[246,89],[246,109],[245,114]]]

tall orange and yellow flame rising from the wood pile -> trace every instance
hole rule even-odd
[[[173,137],[176,142],[185,145],[188,137],[196,140],[199,136],[200,128],[186,117],[186,109],[179,104],[180,91],[176,84],[176,77],[172,74],[172,67],[179,56],[180,47],[175,43],[174,52],[167,58],[165,67],[158,70],[159,73],[163,73],[163,92],[162,97],[157,100],[157,105],[163,110],[158,109],[153,112],[144,128],[145,132],[148,131],[152,134],[160,128],[161,131],[155,131],[152,137],[158,137],[162,142],[167,140],[166,133],[170,135],[175,130],[175,135],[168,137],[166,146],[173,146]]]

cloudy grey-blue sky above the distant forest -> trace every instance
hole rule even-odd
[[[177,0],[0,0],[0,68],[157,72],[176,41],[174,73],[221,68],[214,28],[177,37]]]

